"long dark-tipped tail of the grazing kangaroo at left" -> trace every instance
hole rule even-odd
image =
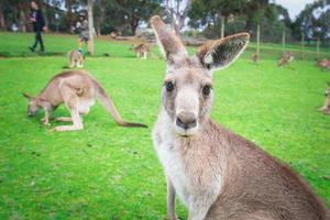
[[[105,89],[96,82],[97,92],[96,96],[100,100],[100,102],[105,106],[107,111],[110,113],[110,116],[113,118],[117,124],[121,127],[141,127],[141,128],[147,128],[147,125],[142,123],[134,123],[134,122],[127,122],[124,121],[119,112],[117,111],[112,100],[107,96]]]

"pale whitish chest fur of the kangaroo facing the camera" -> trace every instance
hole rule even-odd
[[[221,193],[221,167],[219,162],[205,164],[208,150],[198,150],[199,145],[194,141],[187,146],[180,140],[185,138],[176,136],[170,123],[166,113],[160,114],[153,130],[155,151],[167,178],[189,211],[206,213]]]

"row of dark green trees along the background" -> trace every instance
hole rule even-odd
[[[45,22],[52,32],[73,33],[78,12],[87,0],[40,0]],[[306,4],[293,21],[287,9],[274,0],[94,0],[94,24],[99,35],[120,31],[134,35],[152,14],[161,14],[174,30],[206,37],[222,37],[241,31],[256,32],[265,42],[330,41],[330,0]],[[30,1],[1,0],[0,30],[16,25],[21,32],[29,25]],[[184,29],[185,28],[185,29]],[[187,29],[188,28],[188,29]]]

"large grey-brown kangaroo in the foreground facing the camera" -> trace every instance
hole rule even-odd
[[[152,135],[167,177],[168,219],[177,219],[177,194],[190,220],[330,220],[301,177],[210,119],[212,70],[233,63],[250,35],[206,43],[189,57],[160,16],[151,24],[167,59]]]

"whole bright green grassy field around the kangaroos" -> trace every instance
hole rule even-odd
[[[0,33],[0,52],[20,54],[31,37]],[[46,36],[47,51],[73,45],[75,36]],[[21,92],[36,95],[66,57],[0,58],[0,219],[165,218],[166,183],[151,141],[165,62],[134,58],[129,43],[96,45],[113,57],[87,57],[86,69],[124,119],[150,128],[118,127],[97,103],[84,131],[51,132],[59,123],[42,125],[42,112],[28,118]],[[310,61],[277,68],[275,53],[260,65],[249,56],[215,74],[213,120],[290,164],[330,205],[330,117],[317,111],[330,73]],[[178,216],[187,217],[183,206]]]

